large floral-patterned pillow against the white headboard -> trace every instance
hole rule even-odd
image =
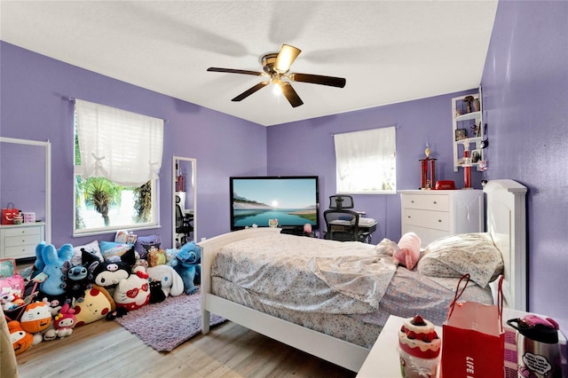
[[[418,272],[430,277],[460,278],[469,273],[480,287],[503,272],[503,258],[487,232],[462,233],[432,241],[418,262]]]

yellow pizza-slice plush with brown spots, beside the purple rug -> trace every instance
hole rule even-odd
[[[75,327],[83,326],[93,321],[103,319],[110,311],[114,311],[113,297],[105,287],[93,285],[85,290],[83,302],[75,303]]]

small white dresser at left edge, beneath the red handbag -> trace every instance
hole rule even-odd
[[[45,240],[45,224],[14,224],[0,227],[0,258],[36,256],[36,246]]]

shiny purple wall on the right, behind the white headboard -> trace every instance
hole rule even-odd
[[[482,80],[487,177],[528,187],[529,309],[568,335],[568,2],[501,1]]]

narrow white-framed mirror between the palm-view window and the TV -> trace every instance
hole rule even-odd
[[[197,240],[197,193],[195,191],[197,161],[173,157],[172,165],[172,246],[180,248]]]

